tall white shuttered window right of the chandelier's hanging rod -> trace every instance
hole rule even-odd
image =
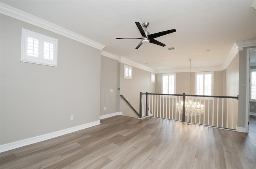
[[[196,95],[213,95],[213,72],[195,73]]]

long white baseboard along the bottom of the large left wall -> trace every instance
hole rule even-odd
[[[68,134],[68,133],[76,132],[78,130],[82,130],[82,129],[89,128],[89,127],[92,127],[92,126],[96,126],[98,124],[100,124],[100,120],[90,122],[90,123],[86,123],[86,124],[82,124],[80,126],[75,126],[75,127],[72,127],[72,128],[67,128],[67,129],[64,129],[64,130],[59,130],[57,132],[44,134],[44,135],[41,135],[41,136],[36,136],[36,137],[32,137],[32,138],[27,138],[27,139],[24,139],[24,140],[14,141],[12,143],[3,144],[3,145],[0,145],[0,153],[2,153],[4,151],[11,150],[11,149],[16,149],[16,148],[19,148],[19,147],[23,147],[25,145],[30,145],[30,144],[33,144],[33,143],[38,143],[40,141],[44,141],[44,140],[48,140],[48,139],[55,138],[55,137],[58,137],[58,136],[62,136],[62,135]]]

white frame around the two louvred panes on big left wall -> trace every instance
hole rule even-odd
[[[28,35],[32,36],[32,37],[38,37],[39,40],[39,54],[38,54],[38,59],[32,59],[32,57],[30,57],[27,54],[27,38]],[[21,58],[20,61],[21,62],[27,62],[27,63],[35,63],[35,64],[39,64],[39,65],[47,65],[47,66],[54,66],[57,67],[57,56],[58,56],[58,40],[54,39],[52,37],[46,36],[46,35],[42,35],[40,33],[36,33],[27,29],[22,28],[22,38],[21,38]],[[47,60],[44,59],[44,42],[51,42],[53,44],[53,60]]]

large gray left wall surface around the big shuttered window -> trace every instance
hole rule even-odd
[[[0,22],[1,145],[99,120],[100,50],[8,16]],[[22,28],[58,39],[58,67],[20,62]]]

